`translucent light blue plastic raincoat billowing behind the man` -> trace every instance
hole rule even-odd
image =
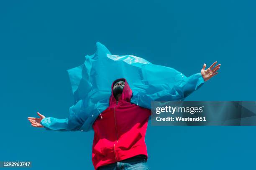
[[[96,44],[97,51],[85,56],[84,64],[67,70],[75,101],[69,117],[42,119],[46,130],[92,130],[97,116],[108,107],[112,82],[118,78],[125,78],[133,90],[131,102],[148,109],[152,100],[184,100],[205,82],[200,72],[186,77],[140,57],[111,55],[100,42]]]

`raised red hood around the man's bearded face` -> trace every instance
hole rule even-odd
[[[123,87],[123,92],[119,98],[119,101],[120,100],[124,100],[126,102],[131,102],[131,97],[132,97],[132,90],[130,88],[130,86],[128,85],[128,82],[126,81],[126,79],[124,78],[119,78],[115,81],[113,81],[112,85],[111,85],[111,95],[110,95],[110,98],[109,98],[109,105],[112,105],[112,104],[116,104],[117,100],[115,100],[115,97],[114,97],[114,94],[113,94],[113,86],[115,84],[115,82],[118,82],[118,81],[124,81],[125,82],[125,86]]]

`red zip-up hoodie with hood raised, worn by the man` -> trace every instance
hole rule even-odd
[[[109,107],[92,125],[92,163],[95,170],[136,155],[148,158],[145,135],[151,110],[131,103],[131,97],[132,90],[125,80],[120,99],[115,100],[112,83]]]

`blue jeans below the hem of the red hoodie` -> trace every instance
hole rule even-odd
[[[104,165],[97,170],[149,170],[145,155],[137,155],[117,163]]]

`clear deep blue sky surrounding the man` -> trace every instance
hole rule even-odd
[[[189,76],[215,60],[219,74],[187,100],[256,100],[256,3],[251,0],[0,2],[0,161],[31,170],[92,170],[93,132],[33,128],[36,111],[66,118],[67,69],[93,54],[136,55]],[[251,169],[256,127],[154,127],[151,170]]]

